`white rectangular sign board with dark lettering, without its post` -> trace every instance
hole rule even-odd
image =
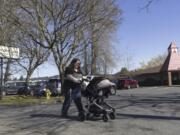
[[[0,46],[0,58],[19,58],[19,48]]]

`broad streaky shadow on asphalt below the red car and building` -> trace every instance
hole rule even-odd
[[[127,96],[121,97],[120,100],[113,100],[111,102],[121,102],[126,103],[123,106],[118,106],[116,109],[122,109],[126,107],[153,107],[153,108],[162,108],[168,107],[175,112],[179,112],[180,108],[180,92],[179,93],[168,93],[162,95],[134,95],[129,98]],[[116,104],[115,104],[116,105]]]

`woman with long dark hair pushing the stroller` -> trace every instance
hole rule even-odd
[[[85,114],[83,110],[83,105],[81,102],[81,81],[82,72],[80,69],[80,60],[78,58],[74,58],[70,65],[65,70],[65,79],[63,85],[63,94],[65,96],[65,100],[62,107],[62,117],[67,117],[68,109],[72,100],[78,109],[79,112],[79,120],[85,120]]]

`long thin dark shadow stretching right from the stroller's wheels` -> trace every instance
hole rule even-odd
[[[180,117],[174,117],[174,116],[122,114],[122,113],[117,113],[116,115],[117,116],[122,116],[122,117],[134,118],[134,119],[180,120]]]

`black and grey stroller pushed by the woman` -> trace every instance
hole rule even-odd
[[[83,79],[82,95],[87,99],[86,118],[102,117],[104,122],[115,119],[115,109],[105,102],[109,95],[116,94],[116,85],[104,77]]]

